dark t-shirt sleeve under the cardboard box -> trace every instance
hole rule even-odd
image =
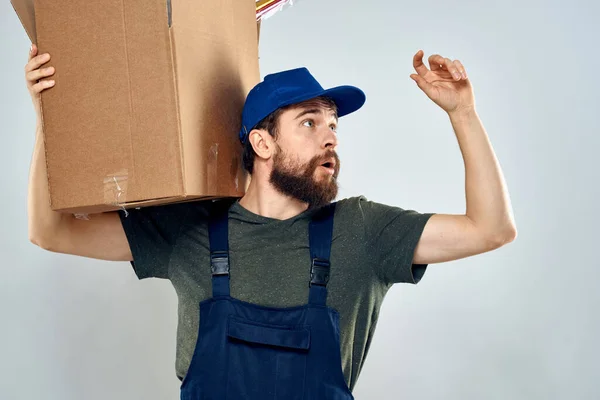
[[[169,260],[192,203],[119,210],[139,279],[169,278]]]

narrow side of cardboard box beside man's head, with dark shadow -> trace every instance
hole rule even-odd
[[[246,95],[260,79],[255,2],[202,4],[173,2],[186,187],[194,196],[241,196],[246,174],[238,132]]]

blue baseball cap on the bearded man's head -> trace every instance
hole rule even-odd
[[[305,67],[269,74],[246,97],[240,141],[245,143],[250,131],[278,108],[319,96],[327,96],[335,102],[338,117],[358,110],[366,101],[364,92],[354,86],[323,89]]]

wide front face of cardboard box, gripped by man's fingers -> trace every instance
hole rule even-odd
[[[110,178],[128,182],[115,203],[183,194],[164,3],[36,0],[35,10],[57,71],[42,94],[52,207],[110,204]]]

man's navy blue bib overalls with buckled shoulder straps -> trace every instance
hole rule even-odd
[[[181,400],[353,399],[342,373],[339,315],[326,306],[334,209],[335,203],[324,207],[310,222],[308,304],[289,308],[230,297],[227,207],[214,214],[213,296],[200,303],[198,341]]]

